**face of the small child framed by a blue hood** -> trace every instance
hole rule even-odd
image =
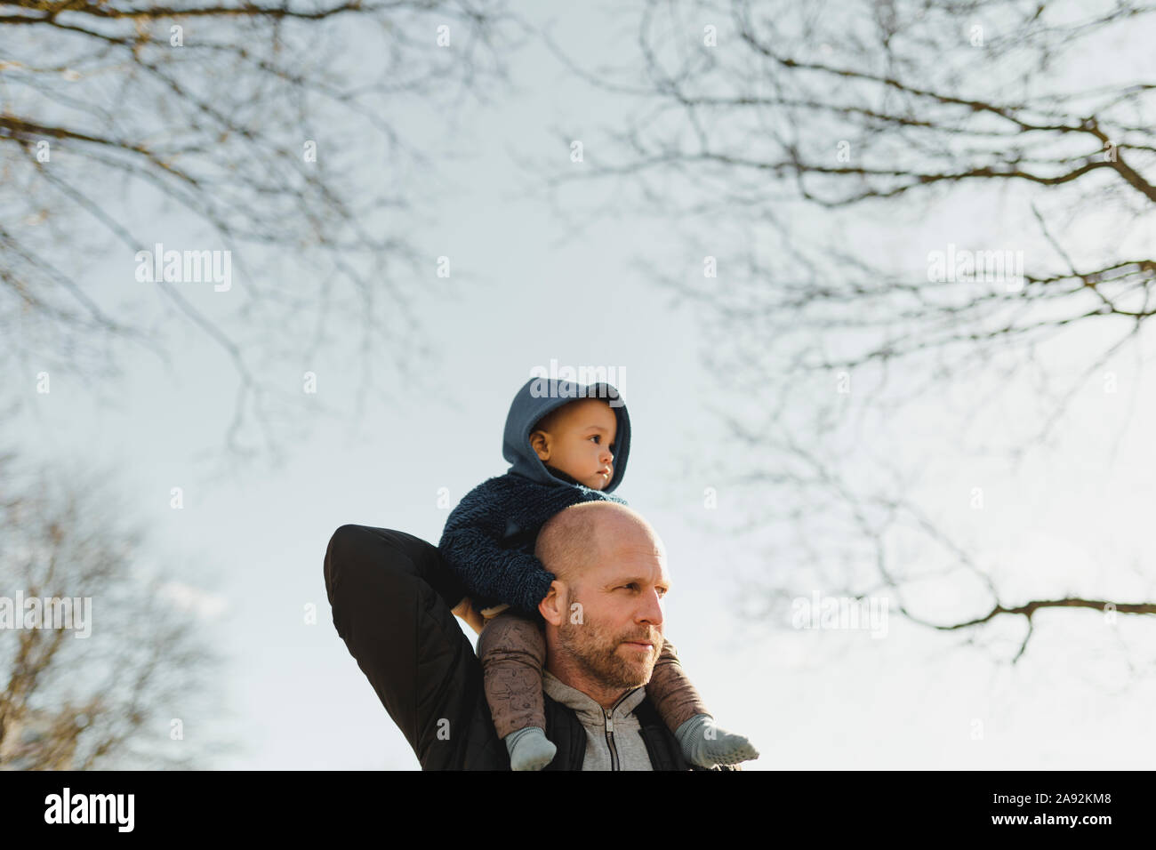
[[[571,401],[551,415],[529,444],[547,466],[564,472],[592,490],[614,478],[614,441],[618,420],[601,399]]]

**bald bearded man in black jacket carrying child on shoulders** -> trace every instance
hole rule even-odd
[[[653,529],[624,505],[585,502],[542,526],[535,555],[556,576],[539,605],[557,745],[546,769],[705,769],[687,762],[643,687],[670,586]],[[423,769],[509,770],[481,665],[451,613],[464,593],[439,557],[403,532],[341,526],[325,556],[333,623]]]

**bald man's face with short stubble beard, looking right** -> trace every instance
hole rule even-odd
[[[662,650],[669,576],[665,555],[645,537],[607,538],[598,566],[568,586],[558,649],[607,687],[636,688],[650,681]]]

